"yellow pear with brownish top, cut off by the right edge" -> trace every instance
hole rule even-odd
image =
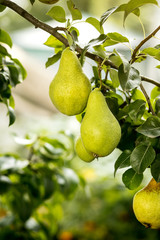
[[[145,227],[160,229],[160,183],[154,178],[133,198],[133,211]]]

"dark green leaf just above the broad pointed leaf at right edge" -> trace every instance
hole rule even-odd
[[[144,114],[146,102],[141,99],[137,99],[129,105],[129,116],[133,121],[138,121]]]

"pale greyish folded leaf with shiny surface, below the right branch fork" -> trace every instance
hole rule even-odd
[[[137,88],[141,83],[139,71],[134,67],[130,67],[127,72],[124,71],[123,64],[118,69],[118,76],[121,87],[124,91]]]

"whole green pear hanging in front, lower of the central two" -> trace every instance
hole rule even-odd
[[[81,137],[87,151],[97,157],[109,155],[120,141],[120,125],[98,88],[89,96],[81,124]]]

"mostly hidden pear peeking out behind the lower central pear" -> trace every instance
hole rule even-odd
[[[78,157],[85,162],[91,162],[95,159],[95,156],[85,149],[81,137],[79,137],[76,141],[75,150]]]

